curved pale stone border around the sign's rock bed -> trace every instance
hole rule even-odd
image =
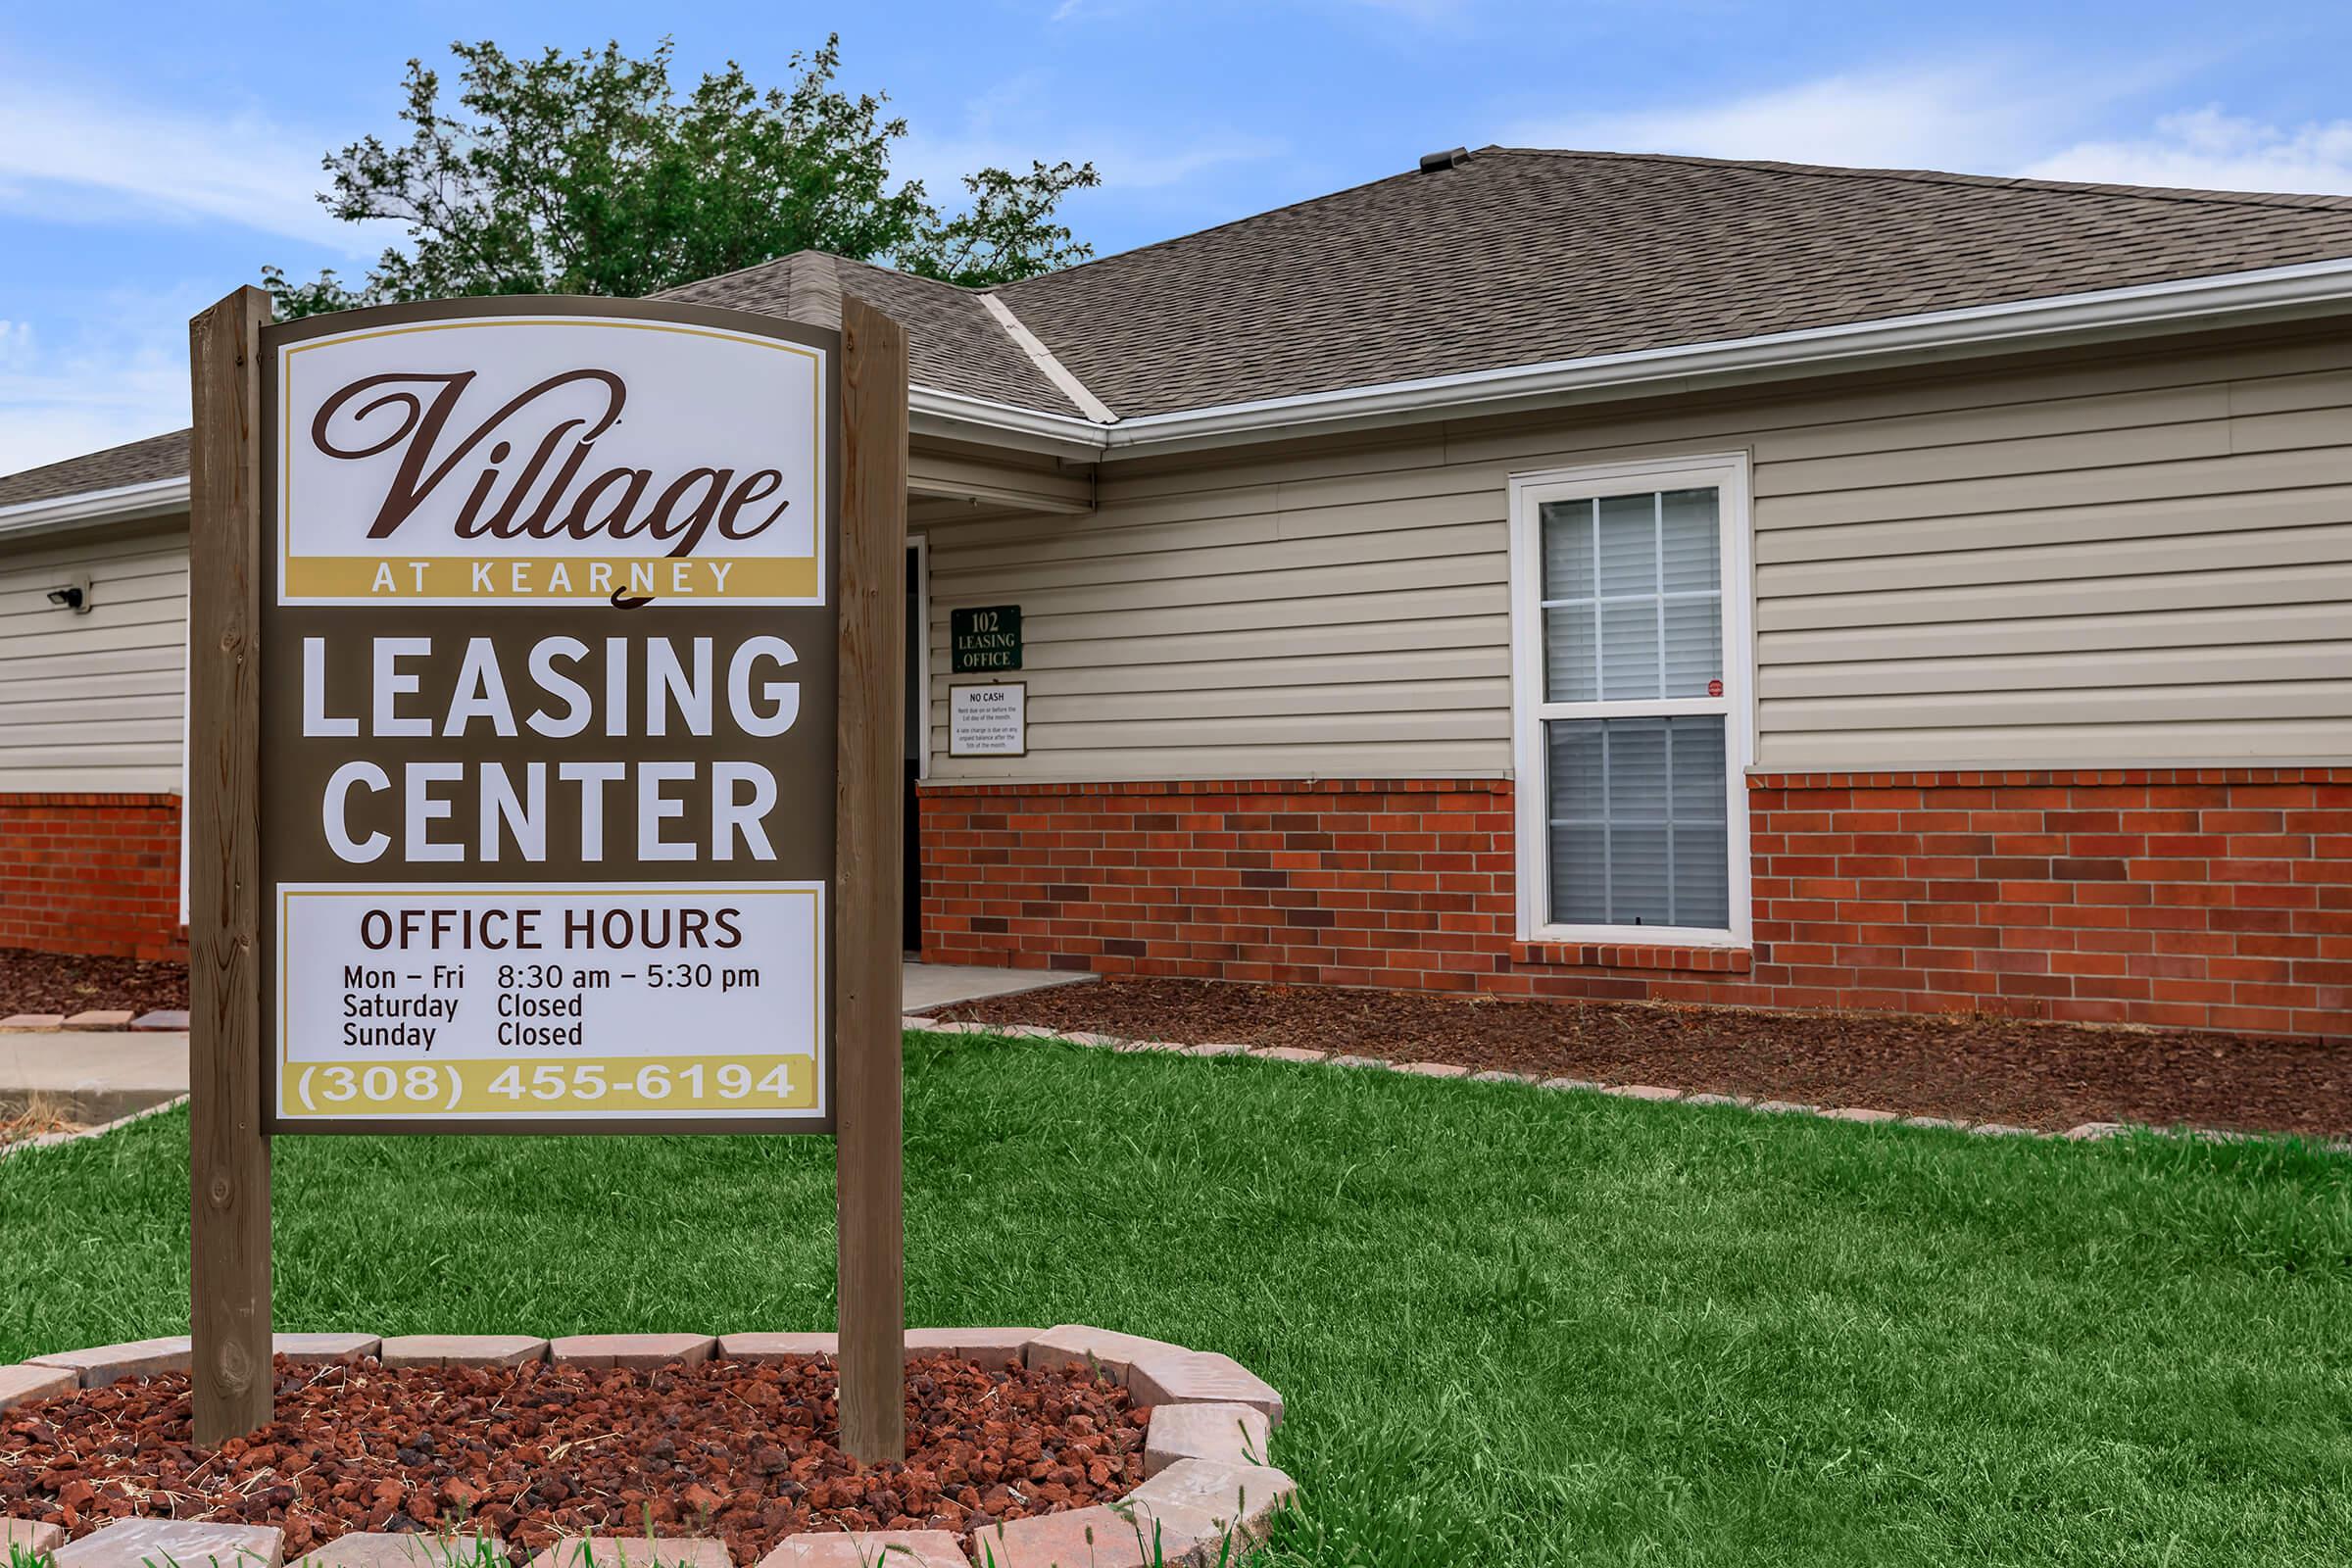
[[[383,1366],[628,1366],[673,1361],[779,1361],[830,1356],[830,1333],[588,1333],[536,1340],[513,1333],[282,1333],[292,1361]],[[1061,1324],[1056,1328],[908,1328],[913,1356],[955,1354],[983,1366],[1089,1371],[1124,1387],[1150,1410],[1143,1429],[1143,1486],[1120,1502],[1014,1519],[985,1530],[823,1530],[786,1537],[757,1563],[731,1563],[710,1537],[597,1535],[557,1540],[517,1568],[1145,1568],[1232,1563],[1265,1537],[1298,1486],[1272,1467],[1282,1394],[1232,1356],[1169,1340]],[[0,1366],[0,1410],[106,1387],[122,1378],[188,1371],[188,1335],[96,1345]],[[66,1542],[52,1523],[0,1519],[0,1547],[49,1554],[54,1568],[143,1568],[155,1561],[219,1568],[280,1568],[285,1540],[263,1526],[191,1519],[122,1519]],[[494,1549],[503,1554],[499,1542]],[[473,1568],[473,1537],[421,1544],[419,1535],[358,1533],[296,1559],[294,1568]]]

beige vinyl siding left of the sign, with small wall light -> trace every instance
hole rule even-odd
[[[82,574],[87,616],[49,604]],[[0,555],[0,795],[176,792],[186,649],[186,531],[80,534]]]

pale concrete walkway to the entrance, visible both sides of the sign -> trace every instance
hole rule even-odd
[[[906,964],[906,1013],[929,1013],[974,997],[1011,997],[1077,985],[1087,973]],[[59,1030],[0,1034],[0,1112],[31,1095],[61,1117],[96,1126],[188,1093],[188,1037],[155,1030]]]

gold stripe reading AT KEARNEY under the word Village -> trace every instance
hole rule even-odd
[[[814,599],[816,557],[296,555],[289,599]]]

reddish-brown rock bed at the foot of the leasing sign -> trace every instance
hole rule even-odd
[[[278,1359],[278,1420],[195,1446],[188,1378],[129,1378],[0,1415],[0,1516],[71,1535],[125,1516],[285,1530],[720,1535],[760,1561],[800,1530],[976,1530],[1115,1502],[1143,1481],[1143,1413],[1077,1373],[908,1363],[908,1462],[835,1448],[823,1359],[400,1368]],[[520,1561],[520,1559],[517,1559]]]

